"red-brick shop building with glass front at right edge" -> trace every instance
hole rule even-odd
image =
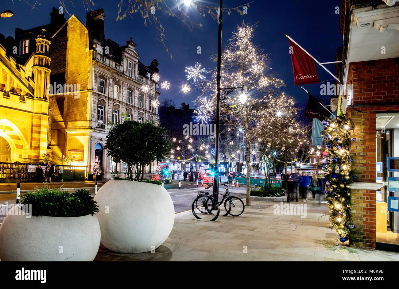
[[[351,153],[358,176],[351,185],[352,246],[399,247],[398,27],[399,3],[342,0],[338,106],[355,124]]]

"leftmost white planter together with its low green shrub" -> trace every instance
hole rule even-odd
[[[24,206],[25,205],[25,206]],[[29,212],[27,210],[29,208]],[[21,196],[0,227],[2,261],[93,261],[100,246],[89,192],[36,188]],[[24,238],[18,238],[24,232]]]

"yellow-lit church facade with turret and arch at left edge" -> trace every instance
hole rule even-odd
[[[0,161],[38,163],[47,151],[50,41],[45,29],[0,35]]]

